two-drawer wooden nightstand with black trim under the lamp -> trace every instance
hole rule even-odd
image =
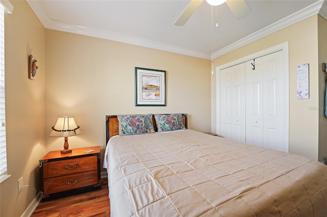
[[[50,151],[39,160],[39,169],[42,201],[101,189],[100,146],[64,155]]]

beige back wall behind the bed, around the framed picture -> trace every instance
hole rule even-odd
[[[83,133],[68,138],[71,148],[105,149],[106,115],[187,113],[190,129],[210,131],[210,66],[209,60],[46,30],[47,151],[63,146],[62,138],[47,136],[63,115],[75,116]],[[167,106],[134,105],[135,67],[167,71]]]

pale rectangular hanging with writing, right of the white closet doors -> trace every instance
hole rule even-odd
[[[297,66],[297,99],[309,99],[309,63]]]

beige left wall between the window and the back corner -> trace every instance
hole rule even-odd
[[[7,121],[7,160],[9,179],[0,184],[1,216],[21,216],[34,191],[39,192],[38,160],[46,153],[45,124],[45,29],[25,1],[11,1],[13,14],[5,15],[5,86]],[[28,56],[39,66],[35,80],[28,79]]]

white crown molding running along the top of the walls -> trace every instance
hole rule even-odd
[[[100,29],[91,29],[91,28],[86,28],[84,26],[73,25],[70,23],[64,23],[64,22],[59,22],[56,20],[51,20],[49,18],[49,16],[45,13],[45,11],[39,1],[27,0],[27,3],[30,5],[30,7],[32,8],[32,10],[34,11],[36,16],[39,18],[39,20],[41,21],[41,23],[43,24],[43,26],[46,29],[75,33],[75,34],[97,37],[97,38],[102,38],[102,39],[108,39],[108,40],[113,40],[113,41],[119,41],[119,42],[128,43],[128,44],[134,44],[134,45],[139,45],[139,46],[144,46],[144,47],[149,47],[149,48],[154,48],[154,49],[159,49],[159,50],[165,50],[165,51],[174,52],[174,53],[180,53],[182,55],[198,57],[198,58],[203,58],[203,59],[207,59],[207,60],[213,60],[217,57],[224,55],[227,52],[230,52],[234,49],[244,46],[252,41],[258,40],[258,39],[260,39],[264,36],[267,36],[273,32],[281,30],[288,25],[291,25],[302,19],[308,18],[314,14],[317,14],[319,12],[319,10],[321,9],[321,6],[323,5],[323,2],[324,2],[324,0],[318,0],[316,3],[308,6],[307,8],[304,8],[282,20],[279,20],[269,26],[266,26],[264,29],[259,30],[259,31],[255,32],[239,41],[236,41],[222,49],[219,49],[213,53],[204,53],[204,52],[199,52],[197,50],[186,49],[186,48],[179,47],[179,46],[174,46],[174,45],[165,44],[165,43],[159,43],[156,41],[132,37],[129,35],[124,35],[124,34],[115,33],[115,32],[111,32],[111,31],[105,31],[105,30],[100,30]],[[326,7],[327,6],[324,6],[323,9],[319,13],[324,18],[327,17]]]

